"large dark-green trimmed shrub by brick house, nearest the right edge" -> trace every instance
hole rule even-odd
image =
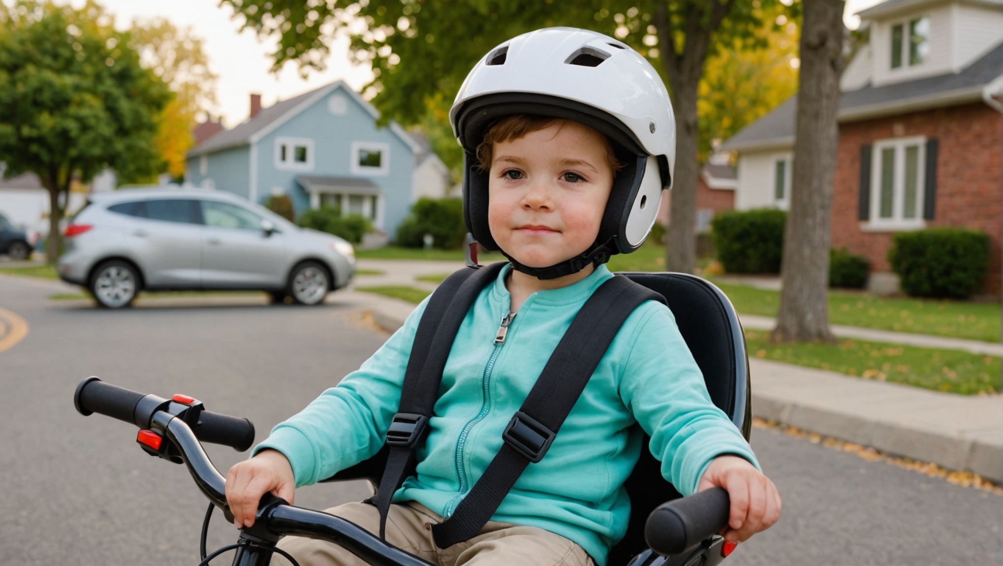
[[[986,274],[989,235],[956,227],[900,232],[888,260],[911,297],[966,299]]]

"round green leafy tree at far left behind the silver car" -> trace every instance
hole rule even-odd
[[[71,181],[106,167],[120,178],[161,169],[157,118],[166,86],[139,65],[129,36],[99,6],[0,5],[0,161],[48,190],[49,262]]]

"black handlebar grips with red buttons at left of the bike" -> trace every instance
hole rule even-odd
[[[183,396],[166,400],[155,395],[143,395],[91,377],[76,387],[73,406],[83,416],[98,413],[132,423],[140,429],[148,429],[154,413],[163,409],[169,403],[177,403],[179,397]],[[196,402],[191,398],[188,400]],[[244,452],[254,444],[254,423],[251,421],[204,411],[201,403],[198,404],[198,422],[190,425],[200,441],[229,446],[238,452]]]

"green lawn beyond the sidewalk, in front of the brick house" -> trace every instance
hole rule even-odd
[[[735,310],[745,315],[775,317],[779,293],[722,284]],[[991,303],[890,299],[862,293],[828,294],[828,320],[833,325],[866,327],[900,333],[918,333],[985,342],[1000,340],[1000,306]]]

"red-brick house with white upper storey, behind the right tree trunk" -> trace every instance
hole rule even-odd
[[[832,246],[866,256],[877,291],[894,280],[896,232],[979,229],[992,241],[985,289],[999,294],[1003,1],[888,0],[859,15],[870,44],[841,80]],[[737,208],[786,207],[795,106],[722,144],[738,154]]]

